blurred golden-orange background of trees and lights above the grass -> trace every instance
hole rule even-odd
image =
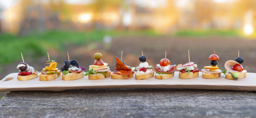
[[[1,29],[20,35],[49,29],[154,29],[161,34],[218,29],[252,35],[256,16],[255,0],[10,0],[10,4],[2,8]]]

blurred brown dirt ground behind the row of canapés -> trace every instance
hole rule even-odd
[[[88,43],[86,45],[68,45],[66,51],[70,54],[70,59],[76,59],[80,66],[88,70],[88,66],[92,65],[94,53],[98,50],[102,53],[102,60],[109,64],[113,71],[115,67],[115,56],[120,58],[121,50],[123,50],[123,61],[132,67],[139,65],[139,56],[143,51],[147,57],[149,65],[155,66],[160,59],[165,56],[171,65],[184,64],[189,61],[188,49],[190,50],[190,61],[198,64],[198,68],[210,65],[209,55],[215,53],[219,56],[218,67],[224,68],[227,60],[235,60],[238,50],[240,56],[244,58],[242,64],[248,72],[256,73],[256,40],[231,38],[231,37],[119,37],[115,38],[109,44],[104,42]],[[50,58],[58,62],[58,68],[64,64],[63,60],[67,60],[66,51],[49,50]],[[40,71],[47,60],[47,57],[34,59],[32,57],[24,57],[26,63],[35,67]],[[3,65],[0,79],[8,73],[18,72],[16,69],[18,62],[12,65]]]

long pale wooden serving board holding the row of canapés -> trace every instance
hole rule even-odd
[[[175,72],[170,79],[129,79],[89,80],[84,78],[63,81],[61,76],[52,81],[39,81],[39,78],[28,81],[18,81],[18,73],[11,73],[0,81],[0,92],[23,91],[23,90],[47,90],[63,91],[72,89],[92,89],[92,88],[186,88],[186,89],[206,89],[206,90],[245,90],[256,91],[256,73],[247,73],[247,77],[239,80],[225,79],[224,74],[216,79],[203,79],[202,73],[199,77],[192,79],[179,79],[179,73]]]

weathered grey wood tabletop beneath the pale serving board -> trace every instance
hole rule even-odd
[[[88,89],[10,92],[0,118],[255,118],[256,92],[189,89]]]

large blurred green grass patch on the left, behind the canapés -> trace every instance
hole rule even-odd
[[[25,36],[13,34],[0,34],[0,65],[10,64],[20,60],[20,52],[24,56],[32,55],[34,58],[45,56],[49,49],[64,51],[69,44],[84,45],[87,42],[99,42],[103,37],[123,37],[134,35],[155,36],[154,30],[140,31],[113,31],[113,30],[93,30],[93,31],[60,31],[51,30],[40,33],[31,32]],[[0,69],[1,71],[1,69]]]

